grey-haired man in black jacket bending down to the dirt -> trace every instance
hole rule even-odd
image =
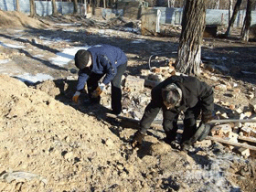
[[[171,144],[176,140],[177,119],[180,112],[185,112],[184,132],[181,146],[192,144],[190,139],[197,132],[197,117],[202,113],[202,123],[208,123],[214,110],[213,91],[207,83],[195,77],[172,76],[152,90],[152,100],[146,106],[140,122],[141,128],[134,134],[133,147],[142,144],[146,130],[153,123],[156,115],[163,110],[164,141]],[[196,141],[194,141],[196,142]]]

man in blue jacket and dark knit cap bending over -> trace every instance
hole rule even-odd
[[[121,80],[127,67],[127,57],[120,48],[99,45],[87,50],[80,49],[75,55],[75,65],[79,70],[77,91],[72,100],[78,102],[80,91],[87,82],[91,103],[99,103],[105,86],[112,84],[112,112],[122,112]],[[105,75],[102,83],[99,80]]]

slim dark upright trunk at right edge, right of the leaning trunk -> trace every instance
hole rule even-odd
[[[243,22],[243,30],[242,30],[242,40],[248,42],[249,33],[251,27],[251,8],[252,8],[252,0],[247,1],[246,15]]]

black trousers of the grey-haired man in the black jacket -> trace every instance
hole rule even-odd
[[[188,141],[197,131],[197,118],[201,112],[200,101],[197,102],[197,105],[193,108],[188,108],[185,112],[184,118],[184,130],[182,134],[181,143]],[[166,109],[163,109],[164,121],[163,128],[166,133],[166,139],[170,142],[175,140],[177,127],[177,118],[179,112],[173,112]]]

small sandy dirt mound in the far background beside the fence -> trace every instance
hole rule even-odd
[[[16,11],[0,10],[0,27],[46,27],[44,23],[36,18]]]

